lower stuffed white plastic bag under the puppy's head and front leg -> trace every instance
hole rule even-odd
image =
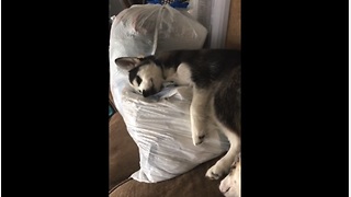
[[[210,123],[205,141],[193,144],[191,93],[189,86],[168,88],[145,99],[129,85],[120,92],[122,116],[139,149],[140,170],[132,175],[134,179],[146,183],[170,179],[228,150],[227,139]]]

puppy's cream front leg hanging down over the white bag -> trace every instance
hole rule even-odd
[[[208,104],[211,91],[193,86],[193,99],[190,105],[190,121],[194,146],[203,142],[207,134]]]

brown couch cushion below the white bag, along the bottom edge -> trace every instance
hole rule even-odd
[[[112,189],[110,197],[223,197],[218,188],[220,181],[211,181],[205,177],[206,171],[219,158],[205,162],[185,174],[159,183],[141,183],[129,178]]]

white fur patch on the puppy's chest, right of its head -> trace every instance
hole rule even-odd
[[[192,85],[193,83],[188,63],[180,63],[177,71],[174,69],[167,70],[165,76],[167,76],[166,81],[173,81],[178,85]]]

